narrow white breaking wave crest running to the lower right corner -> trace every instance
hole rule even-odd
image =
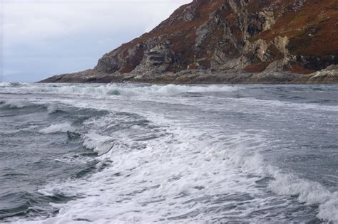
[[[318,218],[338,223],[337,191],[332,193],[320,183],[299,178],[295,174],[285,173],[276,166],[266,164],[261,154],[255,152],[247,155],[250,152],[244,149],[245,147],[241,147],[240,150],[227,154],[241,171],[273,178],[267,186],[270,191],[281,196],[296,196],[299,203],[318,205]]]

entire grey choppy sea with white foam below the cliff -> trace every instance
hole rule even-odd
[[[338,223],[338,86],[2,82],[0,222]]]

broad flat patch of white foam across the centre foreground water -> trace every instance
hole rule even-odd
[[[217,215],[222,217],[222,213],[208,213],[212,208],[231,207],[233,203],[240,206],[231,200],[232,194],[252,198],[260,195],[260,189],[252,187],[260,176],[246,176],[262,173],[261,166],[264,169],[262,156],[255,153],[257,147],[252,146],[264,144],[260,136],[239,133],[227,138],[227,142],[220,142],[215,141],[220,137],[215,133],[205,134],[197,129],[171,125],[171,134],[146,141],[142,150],[126,150],[123,144],[109,149],[111,137],[87,134],[84,144],[96,151],[104,151],[99,157],[102,161],[111,159],[113,162],[86,179],[53,184],[41,190],[47,196],[53,193],[81,196],[66,204],[54,204],[60,212],[45,222],[65,223],[81,218],[93,223],[153,223],[161,220],[199,223],[217,218]],[[168,127],[165,129],[169,132]],[[133,139],[121,138],[120,141],[128,143]],[[216,203],[220,196],[230,199]],[[243,200],[240,216],[245,217],[276,199]],[[229,208],[228,213],[238,213],[237,206]],[[175,220],[185,214],[196,215]],[[260,220],[264,217],[252,218],[252,221]]]

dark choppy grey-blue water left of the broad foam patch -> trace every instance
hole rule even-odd
[[[56,215],[58,208],[50,203],[66,203],[75,197],[62,192],[44,195],[34,188],[46,181],[84,178],[98,171],[98,154],[83,146],[83,133],[90,127],[82,124],[108,112],[20,100],[4,100],[1,106],[1,115],[13,118],[6,127],[9,131],[0,132],[0,222]],[[26,144],[19,147],[16,142]]]

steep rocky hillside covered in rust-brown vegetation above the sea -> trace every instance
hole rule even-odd
[[[95,68],[43,82],[337,82],[335,64],[338,0],[194,0]]]

